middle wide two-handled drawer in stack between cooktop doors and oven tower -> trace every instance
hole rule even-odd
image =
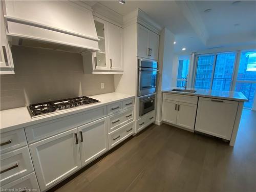
[[[108,116],[109,133],[134,120],[133,108]]]

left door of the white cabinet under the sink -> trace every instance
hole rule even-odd
[[[178,102],[171,100],[163,100],[162,120],[176,124]]]

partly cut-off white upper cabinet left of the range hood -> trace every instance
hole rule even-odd
[[[6,36],[6,27],[3,15],[3,1],[1,1],[1,47],[0,47],[0,74],[14,74],[14,65],[12,60],[11,48]]]

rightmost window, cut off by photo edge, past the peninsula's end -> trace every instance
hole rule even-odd
[[[242,52],[235,91],[241,91],[249,100],[245,108],[252,108],[256,90],[256,51]]]

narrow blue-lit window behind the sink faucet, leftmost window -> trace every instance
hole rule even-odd
[[[177,87],[185,86],[185,79],[188,75],[189,59],[188,57],[180,57],[178,63]]]

